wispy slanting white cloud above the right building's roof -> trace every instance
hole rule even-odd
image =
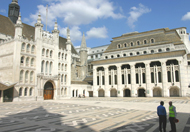
[[[134,29],[134,22],[136,22],[140,16],[150,11],[151,9],[147,8],[143,4],[139,4],[139,7],[131,7],[131,11],[129,12],[130,16],[127,19],[127,24]]]

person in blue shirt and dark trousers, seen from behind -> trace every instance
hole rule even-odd
[[[157,107],[157,115],[159,116],[159,130],[162,132],[162,126],[164,132],[166,132],[166,109],[163,106],[164,102],[161,101],[160,105]]]

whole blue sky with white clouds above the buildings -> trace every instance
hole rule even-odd
[[[12,0],[1,0],[0,14],[8,16]],[[60,36],[71,30],[74,46],[85,33],[88,47],[110,44],[124,33],[158,28],[187,27],[190,31],[190,0],[18,0],[22,21],[34,26],[40,12],[45,30],[48,4],[48,31],[57,20]]]

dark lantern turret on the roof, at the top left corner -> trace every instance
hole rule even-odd
[[[12,0],[12,3],[9,4],[9,18],[11,21],[16,24],[19,17],[20,6],[18,5],[18,0]]]

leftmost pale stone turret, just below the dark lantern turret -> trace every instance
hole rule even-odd
[[[22,36],[22,21],[21,21],[21,15],[19,14],[18,20],[15,24],[15,39],[18,39]]]

